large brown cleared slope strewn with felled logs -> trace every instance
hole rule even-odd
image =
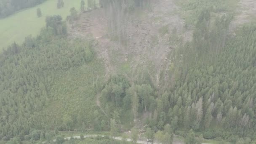
[[[70,26],[71,37],[93,37],[96,39],[96,53],[103,59],[106,77],[115,73],[122,64],[129,65],[127,77],[133,82],[138,73],[150,71],[155,87],[167,78],[160,78],[160,72],[168,71],[169,55],[176,45],[170,43],[171,31],[176,28],[177,34],[189,40],[191,32],[183,33],[184,20],[175,11],[179,9],[174,0],[152,0],[152,10],[143,11],[140,16],[132,16],[132,21],[125,22],[128,45],[113,41],[107,32],[107,18],[102,9],[80,14],[74,28]],[[165,33],[160,32],[163,29]],[[150,67],[150,68],[149,68]]]

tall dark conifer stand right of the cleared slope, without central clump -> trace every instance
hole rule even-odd
[[[168,90],[173,103],[168,119],[178,120],[172,127],[204,131],[206,139],[253,137],[256,25],[248,24],[236,35],[228,35],[230,21],[225,15],[211,21],[209,12],[203,11],[192,42],[176,51],[180,75]]]

